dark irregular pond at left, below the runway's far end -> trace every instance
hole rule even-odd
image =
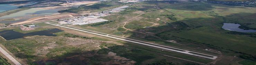
[[[0,31],[0,36],[3,37],[6,40],[12,40],[12,39],[19,39],[19,38],[24,38],[25,36],[35,36],[35,35],[39,35],[39,36],[57,36],[54,35],[54,33],[63,31],[61,29],[50,29],[50,30],[43,30],[43,31],[36,31],[36,32],[31,32],[31,33],[19,33],[17,31],[14,30],[4,30],[4,31]]]

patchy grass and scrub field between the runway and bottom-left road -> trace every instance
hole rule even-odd
[[[44,23],[37,23],[40,28],[59,28]],[[40,28],[37,28],[40,30]],[[9,29],[15,29],[9,28]],[[35,29],[35,30],[37,30]],[[159,61],[171,64],[196,64],[177,58],[158,54],[161,51],[134,43],[118,41],[95,35],[88,35],[76,31],[76,35],[69,34],[75,30],[60,28],[65,32],[55,33],[56,37],[29,36],[21,39],[4,41],[3,44],[12,54],[28,64],[153,64]],[[24,32],[24,31],[21,31]],[[28,31],[33,32],[33,31]],[[85,36],[80,36],[81,34]],[[111,40],[111,41],[110,41]],[[162,52],[160,52],[162,53]],[[186,56],[163,51],[170,56]],[[143,59],[141,59],[143,58]],[[201,63],[211,60],[193,56]],[[64,60],[65,59],[65,60]],[[151,62],[151,63],[149,63]]]

